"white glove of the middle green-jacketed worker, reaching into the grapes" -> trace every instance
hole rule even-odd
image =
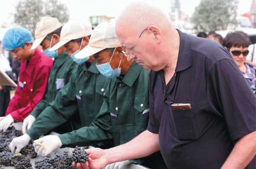
[[[11,152],[18,153],[22,148],[24,148],[26,145],[28,145],[28,142],[31,140],[29,135],[24,134],[20,137],[14,138],[11,143],[9,144],[9,148]]]

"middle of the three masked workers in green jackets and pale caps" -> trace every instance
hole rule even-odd
[[[105,87],[109,80],[100,74],[93,56],[84,59],[76,59],[74,57],[76,53],[88,45],[91,32],[92,26],[88,22],[68,21],[63,26],[61,41],[54,45],[50,51],[56,50],[63,45],[66,46],[68,55],[78,64],[78,67],[72,73],[67,85],[57,93],[55,100],[49,103],[48,107],[40,113],[35,122],[28,122],[31,128],[26,130],[24,135],[11,141],[9,148],[12,152],[14,150],[15,153],[20,152],[30,139],[35,140],[47,134],[67,122],[73,115],[78,114],[78,119],[80,120],[77,123],[72,121],[73,130],[89,126],[95,120],[103,103]],[[60,139],[56,135],[48,135],[48,137],[50,137],[50,142],[47,146],[49,145],[50,148],[59,147],[61,146],[60,143],[69,147],[82,146],[84,144],[82,142],[77,143],[76,140],[79,138],[76,137],[65,137],[65,139]],[[102,147],[108,146],[104,143],[109,141],[109,139],[106,142],[102,141]],[[72,142],[76,144],[72,144]],[[98,147],[96,144],[93,145]]]

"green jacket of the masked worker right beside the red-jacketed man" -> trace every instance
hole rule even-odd
[[[48,106],[48,104],[54,101],[56,94],[61,88],[67,84],[69,77],[74,70],[76,63],[67,56],[67,51],[58,56],[52,66],[52,70],[48,79],[48,88],[43,99],[37,104],[30,115],[37,118],[39,114]]]

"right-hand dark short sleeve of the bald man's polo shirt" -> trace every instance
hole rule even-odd
[[[256,96],[233,60],[213,64],[207,86],[211,109],[225,118],[234,141],[256,129]]]

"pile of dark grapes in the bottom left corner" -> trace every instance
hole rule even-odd
[[[20,153],[13,154],[9,149],[12,139],[22,135],[22,131],[16,130],[13,126],[5,132],[0,130],[0,167],[13,166],[15,169],[32,169],[29,158],[36,158],[37,153],[33,147],[33,141],[24,147]]]

